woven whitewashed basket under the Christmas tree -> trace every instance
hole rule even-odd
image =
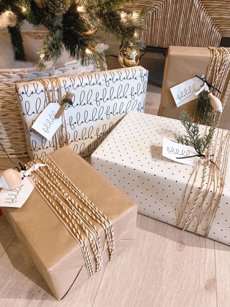
[[[31,31],[31,35],[41,38],[41,32]],[[96,70],[94,67],[82,66],[78,61],[58,64],[46,71],[37,71],[36,67],[0,69],[0,140],[7,153],[17,158],[28,156],[24,128],[14,89],[16,83],[91,73]],[[2,148],[0,148],[0,157],[7,157]]]

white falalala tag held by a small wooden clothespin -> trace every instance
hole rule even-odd
[[[49,103],[32,125],[32,128],[48,141],[52,139],[52,136],[62,124],[62,117],[55,118],[60,107],[58,103]]]

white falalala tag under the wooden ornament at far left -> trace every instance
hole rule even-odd
[[[0,192],[1,207],[21,208],[33,191],[34,183],[24,177],[19,187],[13,190],[2,189]]]

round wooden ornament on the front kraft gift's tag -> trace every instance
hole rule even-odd
[[[21,173],[9,168],[8,170],[3,171],[2,175],[0,176],[0,187],[7,190],[16,189],[20,186],[22,177],[23,175]]]

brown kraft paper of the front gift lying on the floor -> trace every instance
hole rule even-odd
[[[68,146],[50,156],[113,223],[116,257],[136,238],[137,205]],[[79,199],[78,203],[81,203]],[[2,211],[57,299],[62,299],[88,279],[80,245],[36,188],[21,208],[4,207]],[[99,224],[97,228],[103,247],[105,233]],[[108,260],[106,245],[103,265]],[[95,261],[93,267],[95,270]]]

